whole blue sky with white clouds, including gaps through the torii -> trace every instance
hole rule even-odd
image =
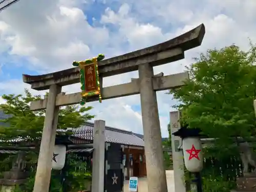
[[[30,88],[22,74],[44,74],[72,67],[73,60],[105,54],[106,58],[159,44],[201,23],[202,46],[185,59],[155,67],[154,73],[180,73],[192,57],[210,48],[255,42],[256,2],[251,0],[26,0],[0,13],[0,95]],[[103,86],[131,81],[138,72],[104,78]],[[63,88],[79,92],[79,84]],[[33,94],[44,94],[31,90]],[[177,103],[158,92],[162,136],[167,136],[170,106]],[[0,99],[0,102],[4,102]],[[142,133],[139,95],[105,100],[94,106],[96,119],[106,125]]]

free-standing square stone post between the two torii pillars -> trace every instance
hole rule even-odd
[[[92,192],[104,191],[105,121],[95,120],[93,131]]]

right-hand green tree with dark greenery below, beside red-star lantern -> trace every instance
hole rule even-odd
[[[219,138],[204,148],[203,188],[227,192],[236,187],[239,173],[238,151],[229,148],[232,138],[255,136],[256,47],[251,45],[247,52],[234,45],[208,50],[195,60],[187,67],[190,79],[185,86],[169,94],[180,101],[176,107],[182,112],[182,125]]]

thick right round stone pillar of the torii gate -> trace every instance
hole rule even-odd
[[[152,82],[153,76],[153,67],[149,63],[139,65],[148,192],[167,192],[157,97]]]

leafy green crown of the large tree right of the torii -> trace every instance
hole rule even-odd
[[[187,67],[185,86],[169,91],[181,102],[183,124],[225,142],[255,134],[256,47],[250,45],[248,52],[234,45],[208,50]]]

